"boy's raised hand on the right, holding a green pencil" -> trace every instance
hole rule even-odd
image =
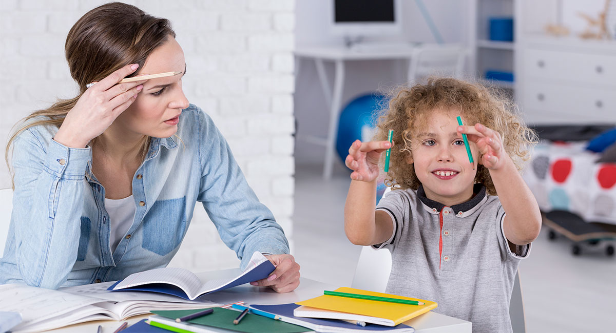
[[[480,154],[477,163],[484,167],[497,170],[503,167],[509,159],[509,155],[503,149],[503,139],[497,131],[476,123],[475,126],[458,126],[460,138],[462,138],[462,133],[466,134],[469,141],[477,144]]]

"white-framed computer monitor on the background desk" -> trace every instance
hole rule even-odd
[[[331,0],[331,33],[350,41],[361,41],[365,36],[400,34],[401,2],[401,0]]]

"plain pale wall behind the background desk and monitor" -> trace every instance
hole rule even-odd
[[[342,45],[342,37],[331,36],[326,11],[332,0],[296,0],[296,47],[309,45]],[[372,40],[434,43],[426,20],[413,0],[402,0],[403,26],[400,36],[371,37]],[[467,1],[423,0],[444,42],[466,42]],[[375,92],[379,87],[402,84],[406,77],[406,61],[347,61],[342,107],[356,96]],[[326,67],[333,82],[333,66]],[[329,109],[325,104],[314,62],[302,61],[296,82],[295,117],[298,136],[325,137]],[[296,140],[296,163],[322,164],[325,147]],[[339,168],[342,162],[336,157]]]

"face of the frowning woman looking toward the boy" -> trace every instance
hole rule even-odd
[[[182,92],[182,76],[185,71],[184,52],[176,39],[169,36],[163,45],[148,56],[137,75],[163,72],[181,74],[147,80],[136,100],[116,118],[114,125],[137,135],[155,138],[174,135],[182,109],[188,108],[188,100]]]

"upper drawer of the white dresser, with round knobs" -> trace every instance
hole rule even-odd
[[[529,49],[524,74],[533,79],[616,87],[616,56]]]

